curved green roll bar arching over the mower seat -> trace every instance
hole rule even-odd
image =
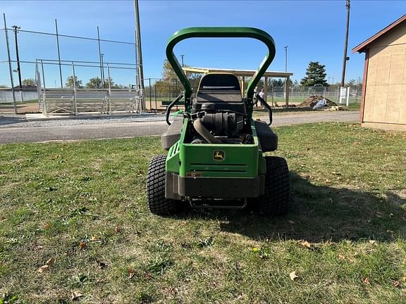
[[[190,97],[192,96],[192,86],[189,80],[180,67],[179,61],[173,53],[173,48],[184,39],[188,38],[254,38],[268,47],[268,53],[259,65],[257,72],[248,83],[247,90],[245,91],[245,98],[249,103],[252,103],[252,96],[254,95],[254,88],[257,86],[266,69],[269,67],[273,58],[275,57],[275,42],[267,32],[259,30],[254,27],[187,27],[183,30],[178,30],[169,39],[166,44],[166,58],[171,63],[173,70],[178,75],[180,82],[185,87],[185,106],[190,106]]]

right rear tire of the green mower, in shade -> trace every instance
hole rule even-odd
[[[290,203],[289,168],[285,158],[266,156],[264,194],[257,198],[256,209],[263,215],[285,215]]]

